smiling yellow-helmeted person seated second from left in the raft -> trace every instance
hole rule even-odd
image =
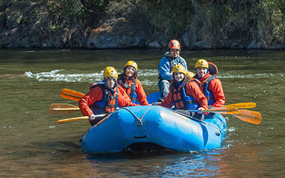
[[[140,105],[149,105],[147,102],[147,95],[142,88],[142,83],[138,80],[138,64],[135,61],[128,61],[125,63],[124,73],[118,76],[118,84],[128,94],[130,100],[135,103],[138,100]]]

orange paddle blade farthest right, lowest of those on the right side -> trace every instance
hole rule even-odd
[[[256,125],[260,124],[262,120],[261,114],[253,110],[239,110],[239,114],[234,116],[240,120],[243,120],[244,122],[249,122]]]

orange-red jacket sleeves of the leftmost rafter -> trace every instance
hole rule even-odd
[[[118,95],[118,106],[126,107],[126,106],[138,106],[130,100],[125,90],[118,86],[119,95]],[[103,90],[100,87],[92,88],[83,98],[78,101],[78,106],[81,110],[82,115],[90,116],[93,115],[92,110],[89,108],[89,105],[101,100],[103,98]]]

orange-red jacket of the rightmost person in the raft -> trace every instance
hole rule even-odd
[[[209,77],[209,72],[203,77],[200,78],[200,82],[203,85],[204,80],[206,80]],[[201,90],[203,90],[201,85]],[[212,105],[216,108],[222,107],[224,103],[226,103],[226,98],[224,97],[224,90],[222,88],[222,82],[219,80],[219,78],[214,78],[213,80],[210,81],[209,83],[209,90],[212,91],[214,95],[214,100],[215,103]]]

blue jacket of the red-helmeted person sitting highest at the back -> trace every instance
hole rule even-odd
[[[165,57],[160,59],[160,63],[158,65],[158,70],[160,70],[160,80],[171,80],[172,79],[172,68],[177,65],[181,64],[187,69],[187,63],[184,58],[178,56],[177,58],[172,58],[170,53],[165,53]]]

